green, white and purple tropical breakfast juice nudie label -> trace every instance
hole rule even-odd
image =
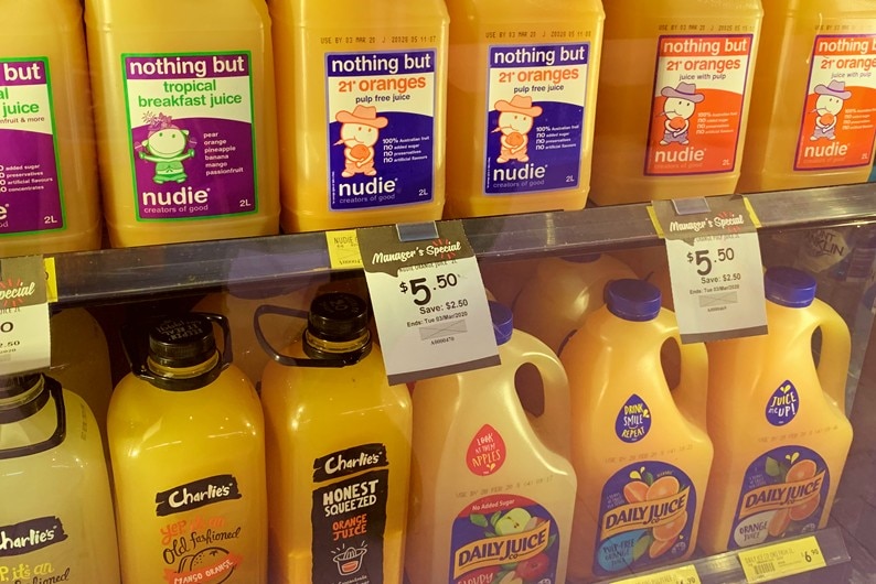
[[[137,218],[257,210],[249,52],[125,54],[121,66]]]

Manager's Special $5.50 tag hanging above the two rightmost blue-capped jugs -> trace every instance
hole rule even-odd
[[[682,342],[765,334],[763,268],[754,210],[740,196],[695,201],[705,202],[707,210],[681,214],[674,201],[649,207],[666,240]]]

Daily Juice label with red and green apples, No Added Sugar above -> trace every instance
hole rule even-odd
[[[511,494],[484,497],[462,509],[451,529],[451,584],[562,584],[559,530],[537,502]]]

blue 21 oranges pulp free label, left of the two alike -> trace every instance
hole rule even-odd
[[[325,55],[331,210],[432,199],[436,54]]]

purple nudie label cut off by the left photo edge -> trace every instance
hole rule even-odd
[[[49,60],[0,58],[0,236],[61,229]]]

